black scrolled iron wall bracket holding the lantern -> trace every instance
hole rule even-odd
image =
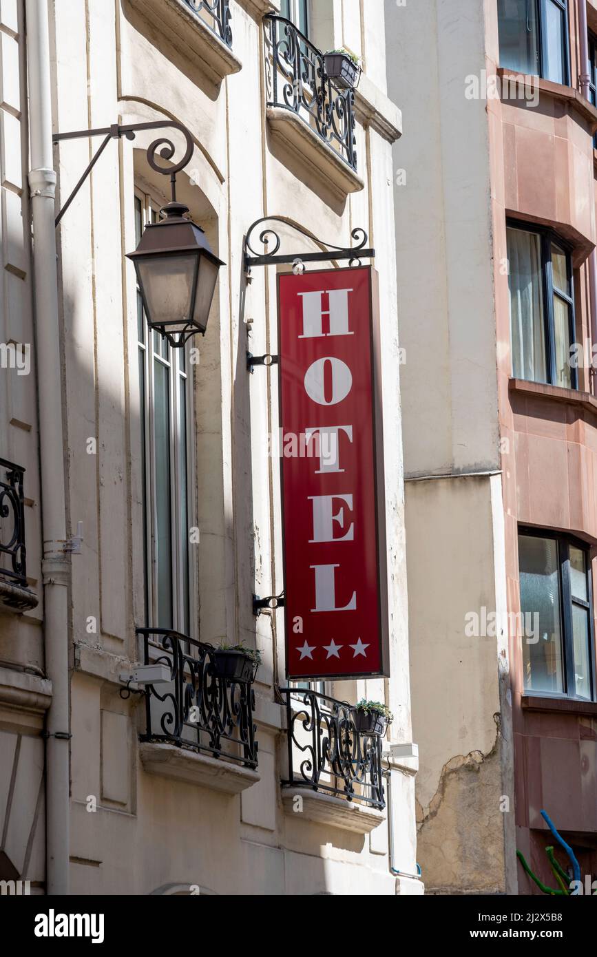
[[[187,143],[187,150],[183,159],[180,163],[176,163],[172,167],[161,167],[155,162],[155,154],[158,150],[158,146],[162,146],[160,150],[160,156],[165,160],[171,160],[174,156],[174,144],[171,140],[166,140],[165,137],[160,137],[158,140],[154,140],[153,143],[147,146],[147,163],[152,169],[155,169],[156,172],[162,173],[164,176],[170,177],[170,186],[172,190],[172,202],[176,201],[176,173],[180,172],[181,169],[184,169],[192,156],[194,144],[190,133],[186,126],[183,126],[182,123],[176,122],[174,120],[160,120],[157,122],[138,122],[131,123],[128,125],[121,126],[119,123],[112,123],[111,126],[103,126],[98,129],[79,129],[75,130],[73,133],[55,133],[52,140],[53,143],[61,143],[64,140],[80,140],[80,139],[91,139],[93,136],[103,136],[103,142],[100,147],[97,149],[95,155],[93,156],[89,165],[85,168],[82,176],[77,182],[77,186],[71,192],[71,195],[67,199],[66,203],[62,209],[58,212],[55,218],[55,225],[57,226],[62,219],[64,213],[68,210],[69,206],[75,199],[78,190],[82,187],[83,183],[89,176],[93,167],[100,159],[102,152],[105,147],[109,144],[110,140],[120,140],[122,137],[126,137],[127,140],[134,140],[135,135],[141,132],[144,129],[178,129]]]

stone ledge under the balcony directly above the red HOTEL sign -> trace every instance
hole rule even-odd
[[[348,193],[365,189],[361,177],[294,110],[268,106],[266,116],[275,142],[293,159],[301,159],[339,199],[345,200]]]

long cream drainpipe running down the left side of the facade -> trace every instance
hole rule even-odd
[[[44,649],[52,681],[46,719],[46,890],[68,894],[69,673],[64,441],[55,245],[47,0],[25,0],[33,216],[33,292],[43,528]]]

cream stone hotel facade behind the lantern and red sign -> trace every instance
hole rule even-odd
[[[402,877],[389,870],[387,812],[370,833],[356,833],[336,812],[316,822],[282,805],[286,719],[276,684],[285,683],[283,619],[281,612],[257,618],[252,612],[254,592],[276,594],[283,588],[278,463],[268,456],[268,434],[277,429],[277,378],[263,367],[254,375],[246,369],[247,351],[276,353],[276,270],[255,268],[246,282],[243,238],[251,223],[266,214],[281,214],[337,245],[350,245],[351,230],[362,226],[377,250],[381,277],[391,677],[336,682],[333,693],[350,701],[365,694],[385,698],[396,716],[385,747],[411,741],[391,153],[401,117],[387,98],[380,42],[385,5],[382,0],[367,0],[366,5],[317,0],[313,17],[316,44],[323,49],[346,46],[364,61],[356,104],[357,177],[325,145],[317,153],[309,152],[307,143],[291,147],[283,123],[280,136],[280,123],[268,119],[261,17],[275,11],[276,3],[231,0],[232,55],[216,53],[228,57],[226,70],[232,72],[220,80],[214,77],[213,61],[206,66],[206,56],[212,55],[200,33],[193,33],[192,21],[179,37],[173,36],[148,15],[150,6],[155,8],[136,0],[50,0],[55,131],[173,119],[187,125],[193,137],[192,159],[178,177],[178,198],[205,228],[226,266],[220,271],[207,335],[197,344],[200,363],[192,369],[194,454],[189,469],[200,543],[191,545],[190,631],[207,642],[242,640],[262,653],[255,682],[258,778],[232,794],[205,781],[192,783],[196,763],[187,752],[181,752],[178,776],[172,776],[171,768],[156,772],[155,752],[144,751],[139,742],[144,701],[136,695],[124,701],[119,693],[120,673],[140,657],[135,626],[143,619],[144,575],[137,306],[134,270],[123,256],[135,247],[135,187],[164,202],[168,198],[167,178],[150,170],[144,155],[159,134],[140,133],[134,143],[108,145],[56,234],[67,515],[73,528],[82,522],[84,536],[81,554],[72,559],[68,634],[71,887],[84,894],[189,893],[191,886],[215,894],[422,893],[422,883],[412,878],[412,762],[387,761],[393,864]],[[185,5],[168,0],[167,6],[176,11]],[[3,0],[3,24],[9,8]],[[13,34],[18,31],[3,26],[3,43],[16,42]],[[10,123],[17,122],[16,107],[5,111],[3,103],[2,108]],[[182,138],[171,135],[181,149]],[[4,136],[2,142],[4,149]],[[57,207],[99,144],[81,139],[55,148]],[[26,158],[16,167],[23,175]],[[3,189],[3,224],[5,194],[11,197],[9,204],[15,198],[24,201],[19,189],[19,183]],[[18,222],[22,231],[23,222]],[[24,266],[17,264],[25,274],[18,282],[29,288],[29,240],[22,232],[17,239],[19,255],[26,257]],[[298,250],[313,248],[300,245],[291,234],[286,242]],[[5,282],[14,277],[6,249]],[[31,323],[30,304],[19,307],[19,322]],[[33,389],[33,377],[28,388]],[[26,437],[33,456],[28,485],[33,511],[37,488],[30,391],[27,401],[33,411],[22,416],[29,422]],[[25,439],[6,437],[11,428],[25,436],[0,416],[9,457],[29,465]],[[96,454],[88,452],[90,438],[97,441]],[[40,537],[32,518],[28,546],[33,574]],[[33,624],[27,627],[38,636],[38,645],[26,636],[24,620],[37,622],[34,631]],[[17,640],[18,619],[6,616],[5,625],[0,618],[0,642],[12,650],[18,645],[19,655],[28,641],[33,651],[37,648],[35,675],[43,682],[40,620],[38,611],[37,617],[31,612],[21,619]],[[38,691],[38,713],[49,694],[47,686]],[[35,720],[41,727],[41,718]],[[18,723],[16,718],[13,722]],[[41,749],[41,739],[33,741]],[[39,760],[29,759],[29,765],[34,777]],[[42,798],[43,789],[40,802]],[[42,852],[37,857],[43,863]],[[15,866],[20,872],[22,865]],[[43,887],[43,870],[36,879]]]

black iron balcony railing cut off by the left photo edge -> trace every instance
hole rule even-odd
[[[25,562],[25,469],[0,458],[0,578],[27,588]]]

